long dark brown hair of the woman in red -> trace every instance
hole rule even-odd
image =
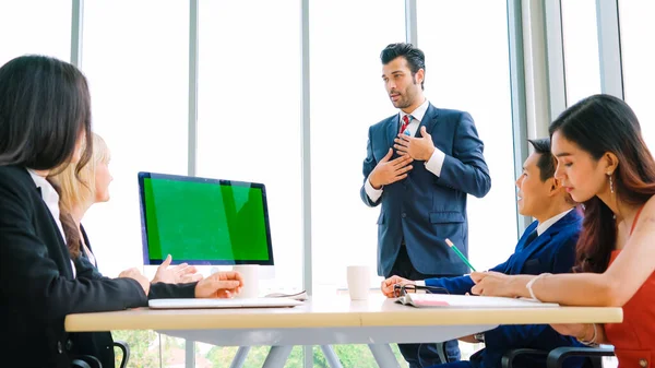
[[[617,199],[644,204],[655,194],[655,161],[641,134],[636,116],[623,100],[594,95],[568,108],[550,124],[555,132],[600,159],[614,153],[619,165],[612,174]],[[611,210],[598,198],[584,202],[583,229],[577,240],[576,272],[604,272],[615,249],[617,228]]]

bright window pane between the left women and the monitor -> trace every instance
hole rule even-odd
[[[82,71],[114,182],[83,223],[107,275],[143,264],[136,173],[187,174],[188,35],[186,2],[85,2]]]

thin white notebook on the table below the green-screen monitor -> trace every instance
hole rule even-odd
[[[284,308],[301,306],[290,298],[233,298],[233,299],[152,299],[152,309],[210,309],[210,308]]]

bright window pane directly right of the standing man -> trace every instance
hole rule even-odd
[[[468,197],[468,253],[487,270],[504,262],[517,239],[507,4],[420,0],[418,46],[430,103],[471,112],[485,142],[491,190]]]

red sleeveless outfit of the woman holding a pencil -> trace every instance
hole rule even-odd
[[[643,209],[643,207],[642,207]],[[630,235],[639,219],[641,210],[634,217]],[[620,250],[611,252],[609,264],[619,256]],[[623,306],[622,323],[606,323],[605,334],[615,346],[620,368],[655,367],[655,273]]]

